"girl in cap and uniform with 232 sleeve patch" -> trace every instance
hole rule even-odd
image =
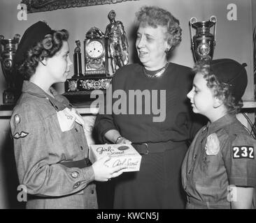
[[[206,116],[182,166],[186,208],[253,208],[256,141],[236,119],[247,86],[244,64],[232,59],[201,61],[187,97]]]

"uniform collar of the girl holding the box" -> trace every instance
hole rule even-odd
[[[55,89],[53,89],[52,87],[50,87],[50,92],[55,98],[52,98],[52,96],[48,95],[48,93],[45,93],[43,89],[41,89],[39,86],[32,82],[24,81],[22,85],[22,93],[28,93],[38,98],[48,99],[57,111],[61,111],[66,107],[72,107],[72,105],[69,103],[69,100],[64,98],[62,95],[59,95],[59,93],[57,93],[57,91],[55,91]]]

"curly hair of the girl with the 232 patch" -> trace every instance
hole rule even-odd
[[[193,72],[199,72],[204,75],[208,88],[213,90],[213,95],[215,97],[222,100],[229,113],[239,113],[243,107],[243,100],[236,100],[236,98],[232,95],[232,91],[230,90],[231,86],[229,84],[220,83],[218,81],[218,78],[214,75],[213,70],[211,70],[209,61],[202,60],[197,62],[193,68]]]

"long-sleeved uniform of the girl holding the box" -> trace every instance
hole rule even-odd
[[[27,208],[97,208],[83,118],[69,101],[24,81],[10,127]]]

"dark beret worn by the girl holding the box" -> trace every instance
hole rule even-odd
[[[52,29],[45,22],[36,22],[31,25],[23,34],[22,39],[17,47],[15,54],[15,64],[20,66],[25,58],[28,50],[36,43],[43,40],[45,35],[51,33]]]

